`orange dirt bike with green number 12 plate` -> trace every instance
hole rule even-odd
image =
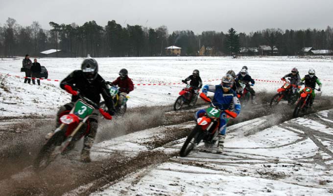
[[[220,109],[220,107],[215,106],[212,100],[204,93],[200,93],[200,97],[204,101],[210,102],[211,107],[206,109],[206,113],[197,119],[197,125],[190,132],[180,150],[180,156],[182,157],[187,156],[201,142],[201,140],[204,142],[211,142],[214,140],[218,134],[219,119],[223,111],[227,114],[228,118],[237,117],[237,113],[227,109],[223,110]]]

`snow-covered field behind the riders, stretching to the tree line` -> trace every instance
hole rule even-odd
[[[49,79],[62,80],[71,71],[80,68],[82,58],[42,58],[38,61],[48,69]],[[200,70],[203,81],[219,79],[229,69],[237,73],[243,65],[249,67],[255,79],[279,81],[292,67],[304,76],[310,67],[323,82],[323,95],[333,95],[333,60],[299,59],[296,57],[150,57],[150,58],[97,58],[99,73],[106,80],[118,77],[121,68],[129,70],[135,84],[179,83]],[[20,72],[22,59],[0,60],[0,73],[24,76]],[[1,76],[1,80],[3,76]],[[23,84],[23,79],[7,77],[0,88],[0,116],[54,114],[57,108],[70,101],[70,95],[60,89],[59,82],[41,81],[41,86]],[[204,82],[218,84],[219,81]],[[280,83],[258,81],[256,91],[273,92]],[[129,107],[172,104],[183,85],[136,86],[130,93]],[[6,91],[8,90],[8,91]]]

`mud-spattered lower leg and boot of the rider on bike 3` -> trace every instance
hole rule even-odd
[[[89,135],[84,138],[83,149],[81,152],[81,162],[84,163],[91,162],[90,150],[93,147],[96,132],[97,132],[97,122],[90,122]]]

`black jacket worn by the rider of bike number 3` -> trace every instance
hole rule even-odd
[[[97,106],[99,106],[100,94],[102,94],[108,109],[114,109],[110,90],[106,87],[105,80],[99,74],[97,74],[95,80],[90,83],[84,77],[81,70],[75,70],[61,81],[60,87],[62,89],[65,89],[65,85],[71,86],[73,90],[79,90],[80,94],[93,101]],[[77,99],[77,96],[73,95],[71,97],[72,102]]]

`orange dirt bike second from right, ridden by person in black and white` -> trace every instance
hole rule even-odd
[[[290,81],[285,81],[285,84],[279,88],[278,93],[273,96],[270,101],[270,107],[276,106],[282,99],[285,99],[290,104],[294,104],[297,101],[298,92],[292,94],[293,89],[298,89],[300,86],[290,84]]]

